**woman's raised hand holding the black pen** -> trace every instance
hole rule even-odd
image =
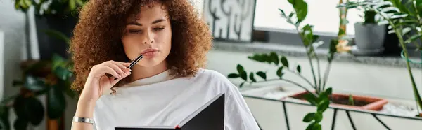
[[[85,82],[81,98],[95,102],[105,90],[130,75],[130,69],[127,68],[129,65],[130,63],[127,62],[107,61],[93,66]],[[106,73],[113,76],[108,78]]]

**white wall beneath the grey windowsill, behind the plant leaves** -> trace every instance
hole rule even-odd
[[[236,64],[242,64],[246,71],[268,71],[267,78],[276,78],[276,67],[252,62],[247,59],[252,52],[226,52],[213,50],[208,55],[210,62],[208,68],[219,71],[224,75],[236,72]],[[309,63],[305,57],[288,57],[290,66],[300,64],[302,75],[312,80]],[[326,59],[321,59],[321,73],[324,72]],[[418,89],[422,92],[422,71],[413,68],[414,79]],[[286,73],[285,78],[298,82],[305,82],[295,75]],[[234,83],[241,80],[231,79]],[[350,92],[371,96],[388,97],[394,99],[413,100],[413,91],[406,68],[390,66],[375,66],[370,64],[357,64],[352,62],[333,62],[327,85],[333,87],[334,92]]]

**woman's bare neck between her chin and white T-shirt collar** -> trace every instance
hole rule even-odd
[[[142,78],[149,78],[164,71],[167,71],[167,62],[165,61],[153,67],[143,67],[136,64],[132,68],[132,81]]]

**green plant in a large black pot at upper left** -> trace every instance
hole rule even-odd
[[[51,38],[51,36],[46,33],[49,33],[49,30],[55,30],[65,36],[71,37],[79,15],[78,8],[84,6],[84,3],[87,1],[88,0],[15,0],[16,10],[21,10],[24,13],[27,13],[30,7],[34,7],[34,19],[41,59],[50,59],[53,54],[68,58],[65,51],[68,48],[68,45],[60,44],[63,43],[63,41]]]

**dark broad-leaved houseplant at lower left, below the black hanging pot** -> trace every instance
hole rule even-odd
[[[54,32],[54,31],[53,31]],[[0,127],[16,130],[27,129],[28,124],[37,126],[45,119],[44,109],[51,120],[63,121],[66,108],[65,94],[74,98],[70,85],[73,73],[70,70],[73,62],[59,55],[53,55],[50,60],[27,60],[22,62],[23,80],[14,80],[13,87],[19,87],[20,92],[9,96],[0,103]],[[46,106],[37,98],[46,95]],[[9,109],[13,109],[16,120],[9,121]],[[59,121],[60,122],[60,121]],[[63,128],[63,124],[60,124]]]

